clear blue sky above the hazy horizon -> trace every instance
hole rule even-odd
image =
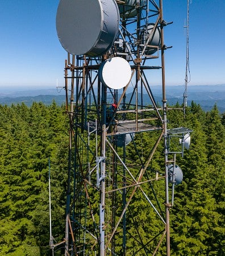
[[[157,2],[157,1],[156,1]],[[67,53],[57,38],[57,0],[0,0],[0,86],[64,85]],[[166,85],[183,85],[186,0],[164,0]],[[225,83],[224,0],[190,4],[190,85]],[[156,63],[152,60],[152,65]],[[156,72],[156,71],[154,71]],[[160,72],[150,84],[161,84]]]

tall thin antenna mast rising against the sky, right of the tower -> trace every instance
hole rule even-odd
[[[189,69],[189,0],[187,6],[187,24],[185,26],[187,28],[186,33],[186,71],[185,71],[185,92],[184,92],[184,117],[185,117],[185,109],[187,106],[188,99],[188,83],[190,82],[190,69]],[[188,79],[189,74],[189,79]]]

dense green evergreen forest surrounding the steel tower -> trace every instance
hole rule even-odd
[[[176,108],[179,108],[176,105]],[[168,126],[189,127],[190,149],[177,164],[184,180],[176,186],[170,210],[171,255],[225,255],[225,113],[209,112],[191,102],[186,116],[168,111]],[[135,139],[139,139],[139,135]],[[49,249],[49,183],[51,170],[52,235],[65,236],[69,119],[64,105],[34,102],[0,105],[0,255],[52,255]],[[146,147],[152,137],[144,137]],[[161,149],[153,158],[160,163]],[[130,158],[132,150],[127,146]],[[49,161],[50,159],[50,161]],[[159,165],[159,164],[158,164]],[[156,188],[157,190],[157,188]],[[164,191],[161,192],[164,195]],[[140,200],[130,206],[144,208]],[[157,226],[141,214],[145,228]],[[149,226],[148,226],[149,225]],[[132,232],[132,230],[127,230]],[[135,241],[134,241],[135,244]],[[61,247],[64,245],[62,244]],[[129,246],[129,245],[128,245]],[[55,255],[64,255],[63,248]],[[141,255],[141,254],[140,254]],[[161,249],[156,255],[166,255]]]

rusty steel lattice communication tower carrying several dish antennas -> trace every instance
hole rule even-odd
[[[182,181],[176,154],[190,130],[166,126],[167,24],[162,0],[60,0],[70,121],[65,255],[156,255],[162,245],[170,255],[169,209]],[[157,69],[163,106],[149,83]],[[176,138],[178,152],[170,147]]]

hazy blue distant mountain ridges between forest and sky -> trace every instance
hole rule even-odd
[[[16,91],[16,88],[0,88],[0,104],[11,105],[21,104],[24,102],[30,106],[32,102],[43,102],[44,104],[51,104],[53,100],[61,105],[65,102],[65,90],[63,88],[23,88],[23,90]],[[156,85],[151,87],[155,101],[161,104],[161,86]],[[127,91],[127,97],[131,89]],[[184,86],[166,86],[166,98],[169,105],[182,104],[184,94]],[[148,104],[149,98],[144,94],[144,104]],[[210,110],[215,104],[218,106],[220,112],[225,112],[225,84],[220,85],[191,85],[188,86],[188,104],[191,101],[200,104],[204,110]]]

